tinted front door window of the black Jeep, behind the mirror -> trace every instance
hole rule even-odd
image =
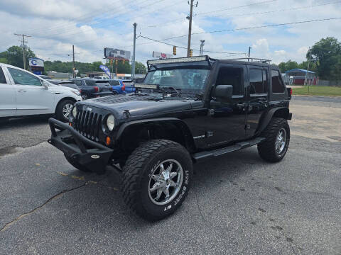
[[[242,84],[243,69],[238,67],[222,67],[219,70],[216,85],[232,85],[233,95],[244,95]]]

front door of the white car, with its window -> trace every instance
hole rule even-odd
[[[16,89],[16,115],[54,112],[55,94],[46,89],[38,77],[21,69],[8,67]]]

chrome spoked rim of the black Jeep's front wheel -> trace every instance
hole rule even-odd
[[[153,170],[148,184],[148,194],[156,205],[171,202],[183,183],[183,168],[175,159],[167,159]]]

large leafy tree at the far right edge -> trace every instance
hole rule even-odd
[[[335,79],[335,73],[332,72],[332,69],[340,59],[340,42],[336,38],[323,38],[308,51],[307,60],[309,60],[310,54],[312,59],[315,60],[319,77],[322,79]]]

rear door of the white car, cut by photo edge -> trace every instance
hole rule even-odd
[[[6,80],[6,68],[0,67],[0,117],[16,115],[16,90]],[[5,71],[5,72],[4,72]]]

